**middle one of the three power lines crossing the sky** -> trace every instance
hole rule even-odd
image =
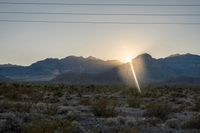
[[[95,15],[95,16],[200,16],[200,14],[149,14],[149,13],[73,13],[73,12],[0,12],[0,14],[42,15]]]

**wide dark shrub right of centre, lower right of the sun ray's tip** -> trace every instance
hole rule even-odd
[[[172,108],[166,103],[150,103],[147,105],[144,115],[148,117],[166,119],[171,112]]]

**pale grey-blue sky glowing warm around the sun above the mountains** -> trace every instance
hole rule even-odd
[[[1,1],[2,2],[2,1]],[[53,0],[6,0],[6,2],[55,2]],[[57,0],[57,3],[200,4],[199,0]],[[55,6],[5,5],[0,12],[149,13],[200,14],[199,7]],[[200,16],[73,16],[3,14],[0,20],[188,22]],[[155,58],[175,53],[200,54],[200,25],[127,25],[11,23],[0,21],[0,64],[30,65],[45,58],[69,55],[125,60],[149,53]]]

